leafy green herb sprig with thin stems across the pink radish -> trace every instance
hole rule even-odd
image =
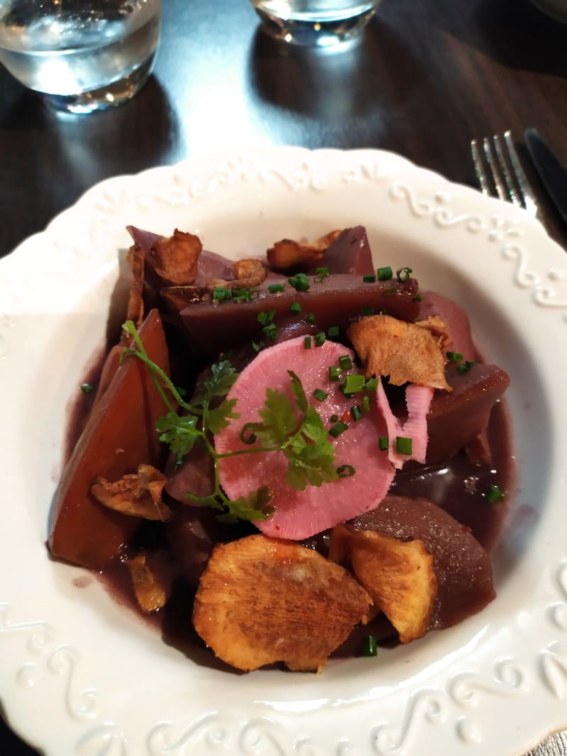
[[[265,322],[269,324],[271,314],[266,314],[266,317]],[[237,400],[226,398],[238,376],[230,361],[222,360],[211,366],[210,375],[203,381],[190,404],[184,401],[169,376],[150,360],[135,324],[126,321],[122,329],[132,336],[135,346],[124,349],[121,359],[126,355],[135,355],[144,362],[166,405],[166,414],[156,422],[160,441],[168,444],[170,451],[178,455],[177,463],[181,463],[184,455],[196,444],[202,445],[212,457],[214,491],[204,497],[188,491],[187,498],[191,502],[220,510],[218,519],[222,522],[269,517],[273,509],[269,506],[270,494],[266,486],[236,500],[229,499],[222,491],[218,473],[219,460],[240,454],[283,451],[287,457],[287,482],[300,491],[303,491],[306,485],[320,486],[324,482],[338,478],[335,450],[329,441],[327,429],[318,411],[308,403],[299,377],[291,370],[287,372],[290,376],[293,401],[285,392],[266,389],[265,403],[259,410],[261,422],[245,423],[240,433],[241,440],[250,448],[218,454],[211,435],[221,432],[229,426],[231,420],[240,417],[234,411]],[[215,403],[211,406],[213,399]],[[216,404],[218,400],[221,401]],[[178,404],[185,414],[177,414],[174,403]],[[254,448],[251,448],[252,446]]]

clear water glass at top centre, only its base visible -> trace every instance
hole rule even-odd
[[[264,29],[296,45],[330,47],[354,39],[380,0],[251,0]]]

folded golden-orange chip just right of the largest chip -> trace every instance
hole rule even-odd
[[[423,541],[333,528],[329,559],[350,561],[357,580],[392,622],[401,643],[422,637],[437,595],[433,557]]]

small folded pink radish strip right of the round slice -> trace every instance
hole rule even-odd
[[[404,462],[416,460],[424,463],[427,451],[427,413],[433,398],[433,389],[429,386],[412,384],[405,390],[407,420],[401,423],[390,409],[388,397],[382,380],[378,380],[376,404],[383,415],[388,429],[388,457],[396,469],[401,469]],[[399,454],[396,451],[396,436],[411,438],[411,454]]]

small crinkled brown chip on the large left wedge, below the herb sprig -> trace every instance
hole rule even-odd
[[[138,472],[128,473],[110,483],[99,477],[91,487],[91,494],[111,510],[133,517],[166,522],[172,512],[163,503],[166,477],[151,465],[139,465]]]

